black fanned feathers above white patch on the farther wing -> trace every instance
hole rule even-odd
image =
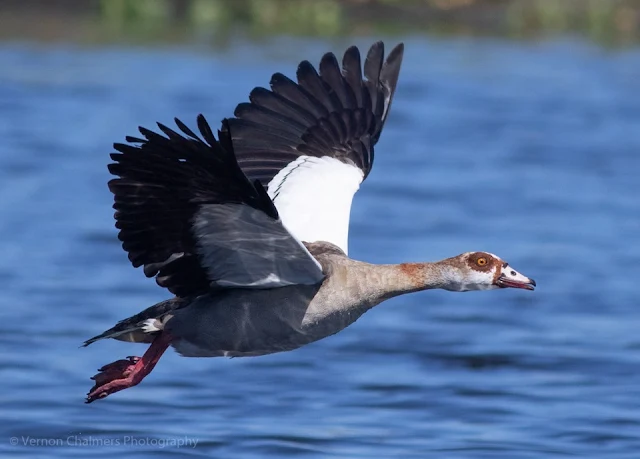
[[[250,102],[239,104],[235,118],[229,119],[242,170],[266,187],[301,155],[331,156],[356,165],[366,177],[389,114],[403,52],[399,44],[385,60],[384,45],[375,43],[362,66],[360,52],[352,46],[343,56],[342,69],[327,53],[319,73],[308,61],[301,62],[297,83],[274,74],[271,91],[255,88]]]

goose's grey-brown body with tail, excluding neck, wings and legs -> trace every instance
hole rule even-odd
[[[188,357],[289,351],[333,335],[381,301],[414,290],[410,279],[402,282],[401,265],[352,260],[325,242],[305,245],[325,274],[319,284],[221,289],[175,298],[121,321],[87,344],[101,338],[150,342],[165,329],[173,337],[173,347]],[[149,319],[156,319],[155,329],[145,331]]]

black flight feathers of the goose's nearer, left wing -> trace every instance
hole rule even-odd
[[[219,141],[198,116],[201,139],[176,119],[187,137],[158,124],[162,136],[140,128],[144,139],[114,144],[109,181],[118,238],[134,267],[178,296],[206,292],[210,279],[192,233],[204,204],[246,204],[277,220],[278,212],[260,183],[252,183],[235,159],[228,122]]]

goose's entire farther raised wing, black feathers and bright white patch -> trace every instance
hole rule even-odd
[[[342,68],[332,53],[319,72],[308,61],[297,80],[281,73],[271,90],[255,88],[229,119],[238,163],[259,180],[301,241],[328,241],[347,252],[353,195],[373,164],[398,82],[404,46],[386,60],[375,43],[361,65],[352,46]]]

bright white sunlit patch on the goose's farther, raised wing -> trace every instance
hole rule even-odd
[[[300,156],[267,191],[286,228],[300,241],[327,241],[348,253],[349,216],[362,170],[330,156]]]

